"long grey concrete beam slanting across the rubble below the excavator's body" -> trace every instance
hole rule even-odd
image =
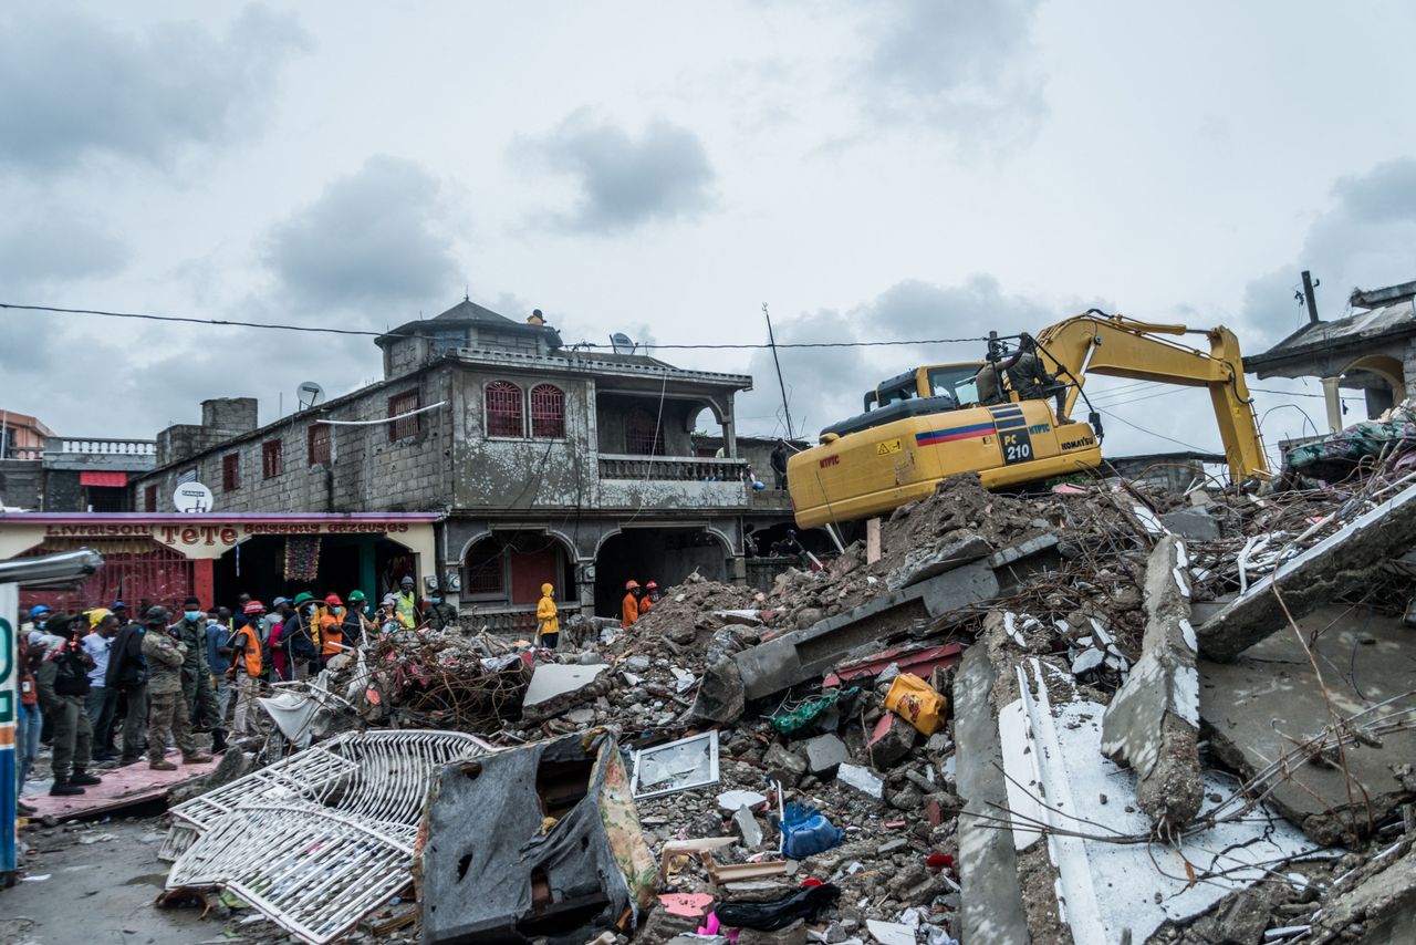
[[[746,698],[762,698],[821,676],[857,647],[875,643],[903,625],[940,618],[998,594],[998,579],[983,561],[817,621],[733,655]]]

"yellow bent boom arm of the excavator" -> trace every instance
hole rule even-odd
[[[1187,333],[1191,330],[1182,324],[1154,324],[1124,316],[1089,313],[1049,326],[1037,336],[1037,341],[1044,364],[1055,368],[1059,380],[1072,383],[1066,391],[1063,414],[1072,414],[1089,374],[1204,387],[1209,391],[1232,482],[1239,483],[1252,476],[1269,477],[1253,401],[1243,380],[1239,340],[1226,327],[1202,332],[1209,340],[1206,354],[1155,337]]]

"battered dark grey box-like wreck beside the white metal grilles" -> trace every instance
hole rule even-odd
[[[654,901],[654,859],[609,735],[443,768],[422,837],[423,942],[583,942]]]

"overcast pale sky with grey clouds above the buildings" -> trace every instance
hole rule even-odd
[[[1259,351],[1303,268],[1324,317],[1416,278],[1385,45],[1413,28],[1402,3],[10,3],[0,302],[384,329],[466,289],[660,343],[760,343],[763,303],[782,341],[1097,305]],[[980,354],[789,351],[793,419]],[[750,371],[741,426],[783,429],[762,353],[664,357]],[[221,395],[273,419],[378,370],[364,339],[0,310],[0,407],[67,435]],[[1321,418],[1257,397],[1270,443],[1310,422],[1286,404]],[[1097,400],[1114,453],[1218,446],[1202,394]]]

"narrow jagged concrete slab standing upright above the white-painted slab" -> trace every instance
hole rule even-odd
[[[1137,805],[1161,836],[1188,823],[1204,799],[1199,674],[1185,567],[1185,545],[1174,534],[1155,543],[1146,562],[1141,657],[1102,721],[1102,751],[1136,772]]]

